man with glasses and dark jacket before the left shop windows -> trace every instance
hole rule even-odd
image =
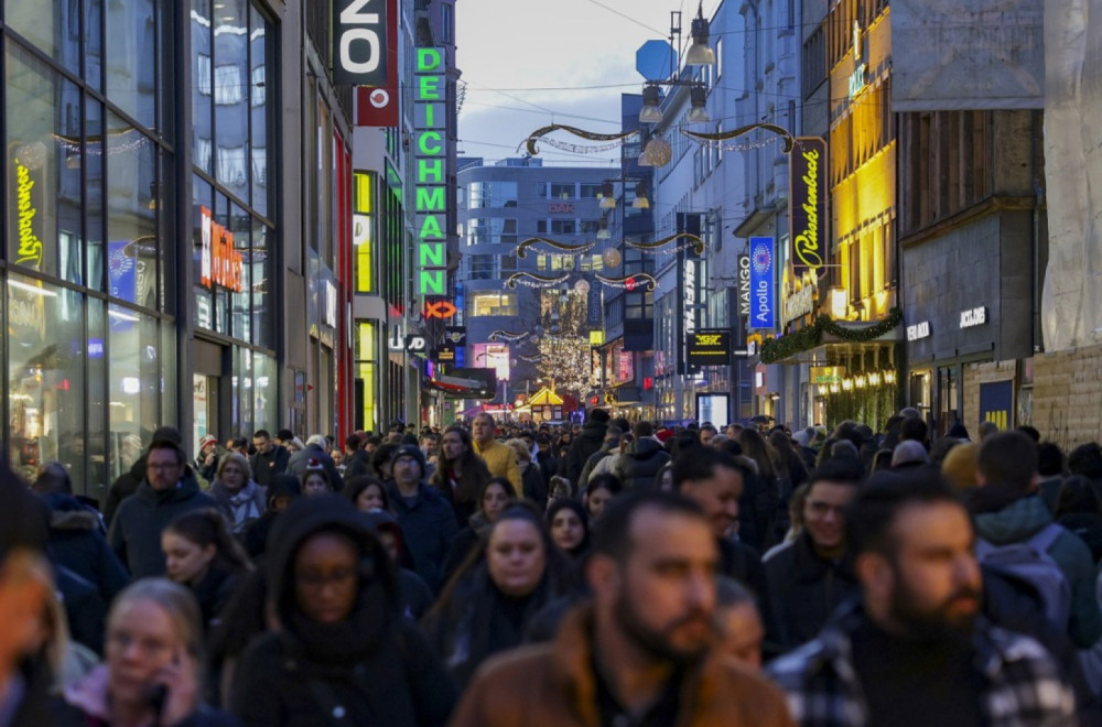
[[[164,575],[164,528],[181,512],[214,507],[214,498],[199,491],[184,451],[158,440],[145,453],[145,481],[119,506],[107,540],[136,580]]]

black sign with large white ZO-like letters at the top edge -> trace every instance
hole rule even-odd
[[[387,0],[333,0],[333,83],[387,85]]]

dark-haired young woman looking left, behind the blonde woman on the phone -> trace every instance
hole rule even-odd
[[[214,508],[174,518],[161,534],[161,550],[169,577],[195,594],[203,629],[209,631],[241,576],[252,569],[248,553]]]

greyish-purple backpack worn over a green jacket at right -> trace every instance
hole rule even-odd
[[[1067,631],[1071,620],[1071,584],[1048,554],[1063,532],[1062,527],[1050,522],[1020,543],[993,545],[980,539],[975,555],[985,566],[1029,586],[1044,605],[1045,616],[1054,626]]]

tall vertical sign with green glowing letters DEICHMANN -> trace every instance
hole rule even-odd
[[[418,295],[447,292],[447,84],[444,50],[417,48],[413,68],[413,164],[417,250],[414,274]]]

